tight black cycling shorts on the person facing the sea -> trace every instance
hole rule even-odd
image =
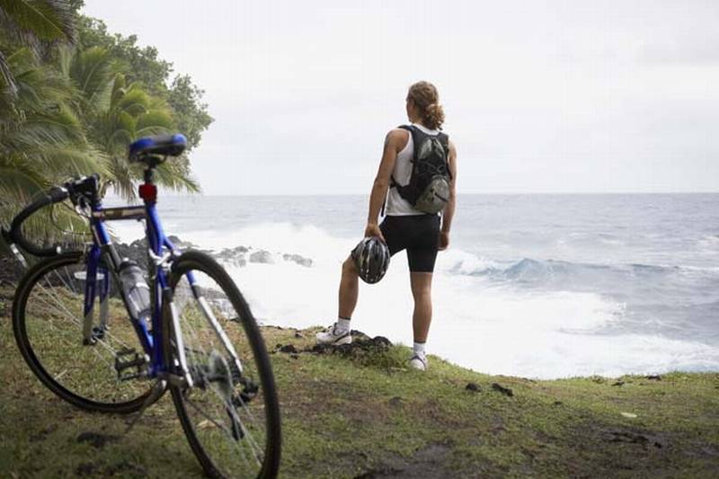
[[[379,229],[390,254],[407,250],[410,271],[434,271],[439,249],[439,215],[385,217]]]

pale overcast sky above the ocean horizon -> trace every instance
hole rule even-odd
[[[207,194],[368,193],[407,87],[460,192],[719,191],[719,2],[85,0],[206,90]]]

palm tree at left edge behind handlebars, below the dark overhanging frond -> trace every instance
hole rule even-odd
[[[40,191],[69,177],[103,173],[102,154],[87,140],[75,114],[74,87],[56,69],[40,64],[31,49],[6,58],[15,91],[0,78],[0,222],[7,224]],[[77,227],[61,208],[31,221],[42,238]],[[51,219],[51,221],[50,221]]]

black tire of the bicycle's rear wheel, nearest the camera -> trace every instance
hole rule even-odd
[[[188,271],[193,271],[193,274],[197,274],[201,271],[207,274],[211,279],[214,279],[235,308],[235,312],[242,318],[241,323],[243,330],[252,349],[253,359],[262,381],[262,397],[264,398],[263,412],[265,414],[265,425],[267,428],[262,467],[257,477],[262,479],[276,477],[280,468],[281,454],[280,404],[272,375],[270,357],[267,354],[259,327],[253,318],[250,307],[245,302],[235,282],[229,277],[220,264],[205,253],[189,251],[183,253],[177,261],[173,263],[173,269],[169,279],[169,286],[173,291],[173,297],[178,282]],[[165,364],[173,364],[173,356],[175,356],[176,353],[173,353],[172,315],[169,311],[170,308],[166,309],[163,330]],[[221,472],[221,467],[215,464],[198,438],[197,431],[191,423],[181,387],[171,384],[169,389],[173,396],[175,409],[182,423],[182,429],[205,473],[210,477],[228,477],[228,475]]]

